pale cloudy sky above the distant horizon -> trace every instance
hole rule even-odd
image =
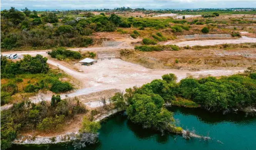
[[[256,0],[0,0],[1,10],[15,7],[20,10],[68,10],[103,8],[251,8]]]

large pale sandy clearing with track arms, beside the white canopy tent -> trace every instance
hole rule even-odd
[[[58,64],[54,61],[49,61],[48,63],[52,65],[59,65],[65,73],[79,79],[83,84],[87,85],[84,89],[78,89],[77,91],[70,94],[62,94],[61,97],[64,98],[66,95],[69,97],[82,96],[85,94],[90,94],[93,92],[104,91],[108,89],[119,89],[124,91],[126,88],[133,86],[142,86],[153,79],[161,79],[163,74],[174,73],[178,77],[177,81],[185,78],[187,75],[192,75],[194,77],[199,76],[222,76],[231,75],[242,72],[243,70],[204,70],[204,71],[186,71],[186,70],[176,70],[176,69],[147,69],[137,64],[128,63],[122,61],[121,59],[104,59],[98,61],[91,66],[81,66],[80,64],[75,64],[75,66],[83,70],[83,73],[78,73],[72,69],[69,69],[63,65]],[[45,97],[47,101],[50,101],[51,97]],[[34,100],[37,102],[37,100]],[[93,104],[88,104],[94,107]]]

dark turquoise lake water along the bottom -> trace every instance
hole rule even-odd
[[[159,132],[133,124],[125,114],[117,114],[102,123],[99,142],[84,150],[256,150],[256,117],[177,107],[169,110],[174,112],[175,119],[184,129],[192,130],[194,127],[196,134],[208,135],[211,140],[186,140],[173,134],[161,136]],[[12,150],[45,150],[46,147],[22,145],[14,146]],[[65,149],[73,148],[67,144],[49,147],[49,150]]]

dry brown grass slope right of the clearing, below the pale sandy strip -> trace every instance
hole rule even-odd
[[[180,51],[130,50],[131,53],[125,53],[121,59],[152,69],[201,70],[218,67],[248,67],[256,64],[256,48],[243,48],[246,45],[250,44],[230,45],[232,48],[224,48],[220,45],[200,48],[196,46],[191,49],[180,49]]]

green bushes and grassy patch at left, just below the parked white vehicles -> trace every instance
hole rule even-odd
[[[50,69],[47,58],[42,55],[24,55],[20,61],[10,61],[1,56],[1,105],[12,99],[20,99],[15,94],[50,90],[55,93],[66,92],[73,86],[59,80],[65,75]]]

